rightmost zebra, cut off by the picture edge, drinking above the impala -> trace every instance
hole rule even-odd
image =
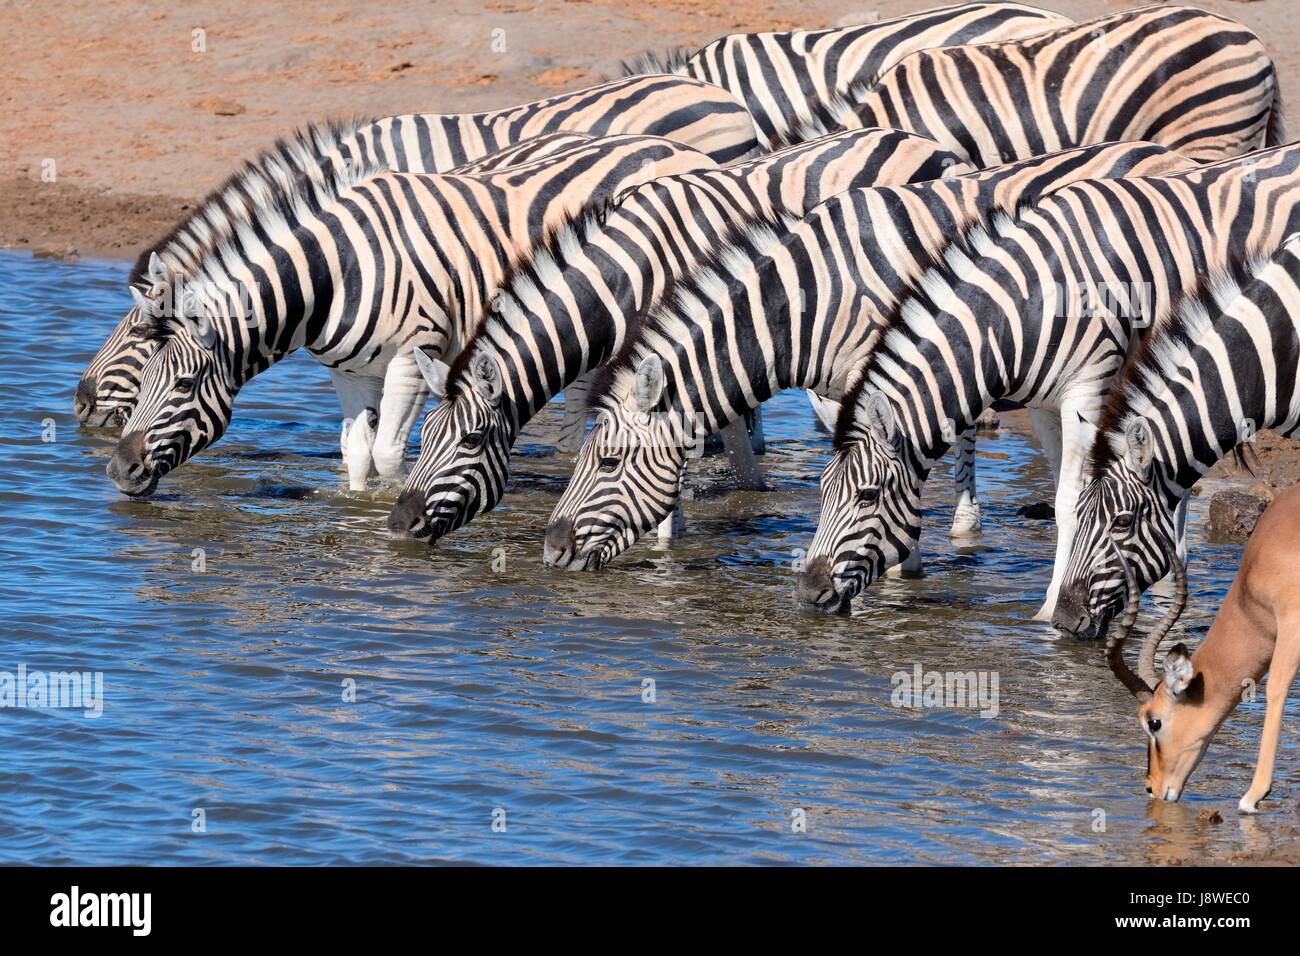
[[[1256,431],[1300,433],[1297,372],[1300,234],[1199,286],[1110,389],[1052,618],[1060,632],[1105,635],[1124,607],[1126,578],[1140,593],[1166,575],[1186,575],[1182,502]]]

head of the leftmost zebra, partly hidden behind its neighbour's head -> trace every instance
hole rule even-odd
[[[131,308],[95,352],[77,382],[73,412],[84,425],[121,425],[135,407],[144,363],[159,349],[150,329],[162,307],[168,287],[166,269],[157,252],[130,286]]]

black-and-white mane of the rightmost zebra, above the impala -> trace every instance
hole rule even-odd
[[[1115,376],[1101,407],[1097,434],[1088,455],[1093,475],[1101,475],[1123,455],[1123,436],[1130,423],[1150,410],[1152,394],[1170,378],[1173,369],[1183,363],[1196,342],[1204,336],[1214,317],[1231,307],[1258,274],[1275,261],[1277,254],[1287,248],[1283,243],[1271,254],[1253,250],[1228,260],[1226,267],[1208,276],[1183,294],[1152,321],[1138,351]],[[1238,464],[1249,471],[1242,447],[1232,450]]]

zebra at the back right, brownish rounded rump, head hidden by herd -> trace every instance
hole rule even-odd
[[[1268,51],[1236,21],[1147,7],[1001,43],[924,49],[819,118],[896,126],[987,168],[1143,139],[1213,163],[1286,142]]]

